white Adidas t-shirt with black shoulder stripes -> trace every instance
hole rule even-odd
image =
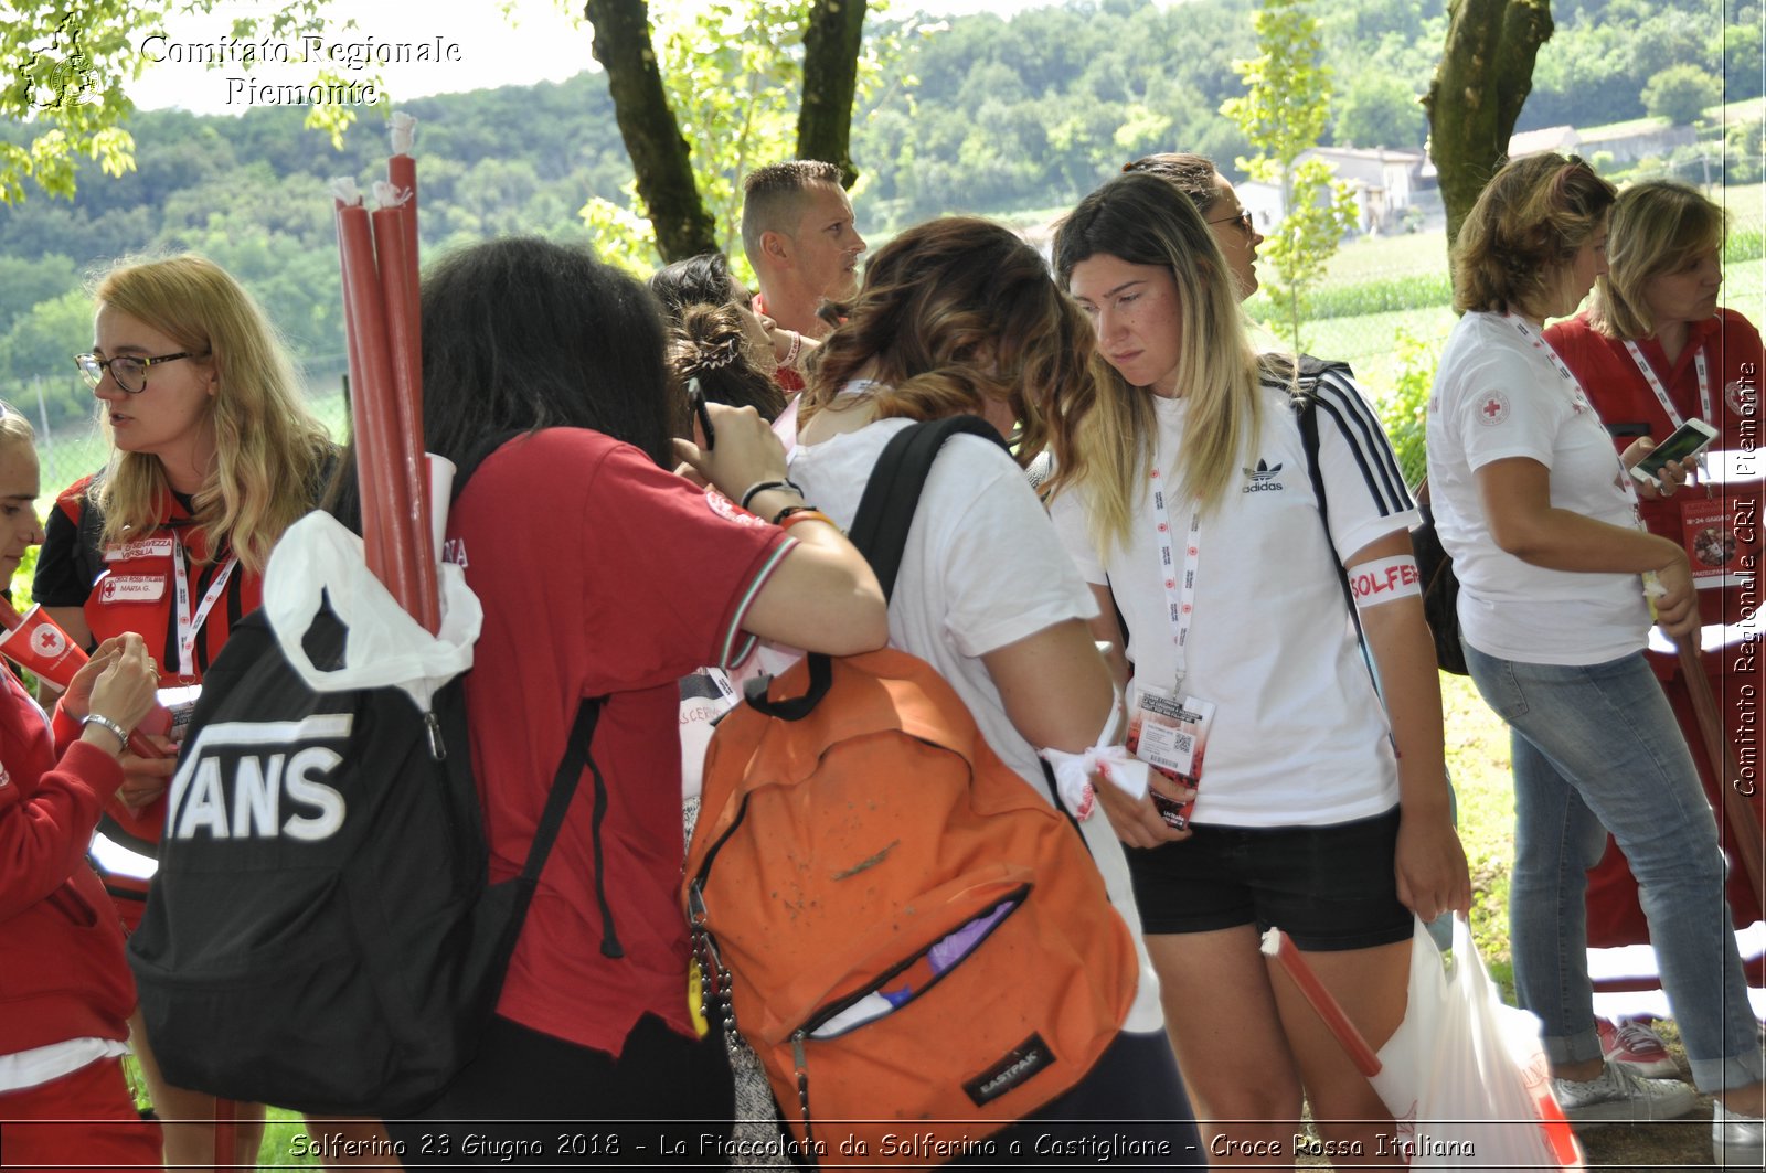
[[[1326,541],[1287,390],[1266,385],[1261,394],[1261,433],[1199,532],[1183,692],[1213,701],[1217,712],[1194,820],[1293,827],[1369,818],[1397,804],[1399,770],[1337,565],[1408,530],[1416,512],[1372,408],[1349,380],[1328,373],[1317,413]],[[1153,406],[1155,461],[1176,484],[1187,405],[1155,397]],[[1167,509],[1181,565],[1192,511],[1178,496]],[[1141,495],[1127,549],[1114,546],[1107,560],[1091,541],[1081,489],[1061,493],[1051,514],[1081,574],[1111,586],[1136,684],[1173,689],[1176,632],[1150,495]]]

